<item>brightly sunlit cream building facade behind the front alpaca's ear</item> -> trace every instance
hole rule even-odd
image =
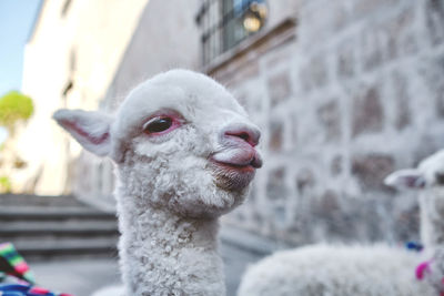
[[[14,191],[57,195],[72,190],[73,162],[81,150],[51,120],[52,113],[98,109],[145,3],[42,1],[24,52],[22,92],[33,99],[36,110],[17,141],[28,166],[13,176]]]

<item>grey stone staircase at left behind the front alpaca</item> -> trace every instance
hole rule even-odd
[[[73,196],[0,195],[0,243],[26,259],[117,257],[115,214]]]

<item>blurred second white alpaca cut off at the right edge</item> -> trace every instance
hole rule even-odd
[[[421,236],[426,252],[415,254],[384,245],[314,245],[276,253],[245,273],[239,296],[440,295],[444,275],[444,151],[417,169],[392,173],[385,184],[417,190]],[[420,282],[416,266],[433,262]]]

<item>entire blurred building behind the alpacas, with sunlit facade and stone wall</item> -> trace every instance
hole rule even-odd
[[[26,50],[36,110],[17,191],[112,210],[112,164],[51,114],[112,112],[178,67],[226,85],[263,131],[264,167],[226,228],[279,246],[417,238],[416,196],[382,181],[444,147],[443,1],[46,0]]]

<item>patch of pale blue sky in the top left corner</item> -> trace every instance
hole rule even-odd
[[[41,0],[0,0],[0,96],[20,90],[23,50]]]

